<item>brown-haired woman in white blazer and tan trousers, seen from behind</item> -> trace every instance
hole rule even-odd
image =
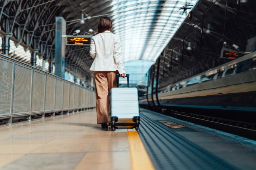
[[[120,38],[111,33],[112,21],[101,17],[98,34],[92,37],[90,55],[94,62],[90,68],[94,72],[97,124],[107,128],[110,114],[110,89],[117,87],[117,73],[126,77],[121,56]]]

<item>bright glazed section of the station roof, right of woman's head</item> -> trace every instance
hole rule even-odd
[[[120,36],[123,61],[155,61],[196,2],[113,0],[113,33]]]

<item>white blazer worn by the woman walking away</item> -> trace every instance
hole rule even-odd
[[[116,71],[124,74],[120,38],[110,31],[105,31],[92,37],[90,55],[94,62],[90,68],[94,71]]]

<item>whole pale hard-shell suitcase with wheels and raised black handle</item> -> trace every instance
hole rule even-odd
[[[110,124],[112,130],[139,128],[139,97],[137,88],[129,88],[129,74],[127,77],[128,88],[119,87],[117,74],[117,88],[110,90]]]

